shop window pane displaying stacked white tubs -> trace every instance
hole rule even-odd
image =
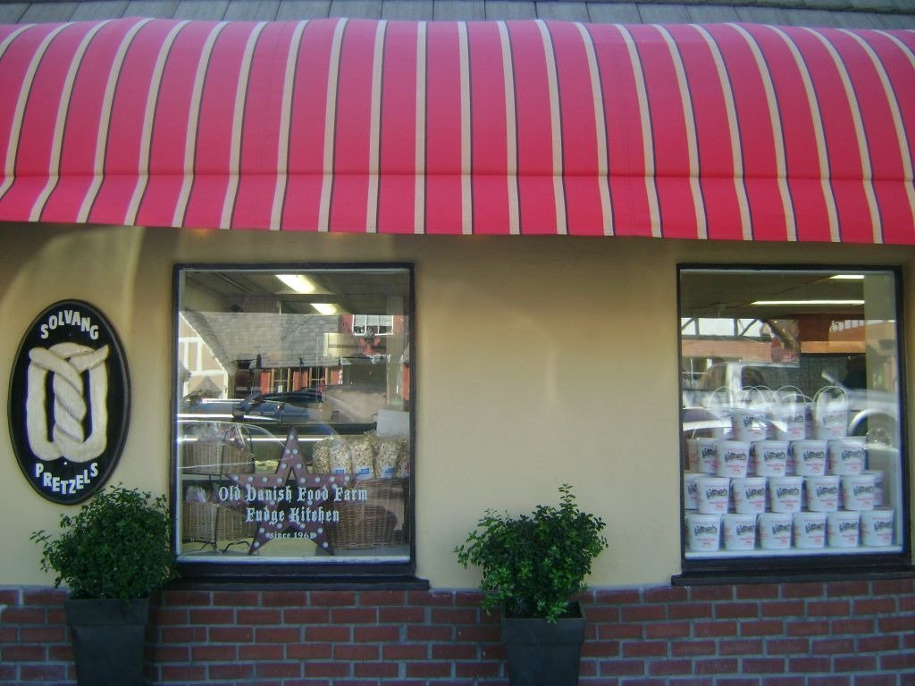
[[[681,269],[684,569],[902,558],[898,293],[884,270]]]

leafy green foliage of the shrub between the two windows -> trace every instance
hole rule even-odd
[[[573,595],[587,586],[591,563],[608,547],[599,517],[578,509],[572,487],[559,488],[560,505],[539,505],[512,518],[492,509],[455,548],[458,562],[482,569],[481,606],[504,606],[506,616],[543,617],[555,622]]]

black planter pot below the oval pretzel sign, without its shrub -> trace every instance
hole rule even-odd
[[[64,603],[79,686],[141,686],[149,600]]]

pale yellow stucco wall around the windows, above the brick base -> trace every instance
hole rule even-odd
[[[592,585],[679,572],[677,263],[897,264],[907,277],[915,257],[874,246],[34,225],[0,226],[0,244],[7,379],[44,307],[98,307],[123,339],[133,384],[113,482],[155,491],[168,484],[173,264],[414,263],[417,572],[434,587],[477,583],[451,551],[484,509],[527,511],[564,481],[608,521],[611,548]],[[6,404],[0,393],[4,415]],[[28,535],[54,529],[61,508],[29,488],[6,431],[0,453],[0,584],[47,583]]]

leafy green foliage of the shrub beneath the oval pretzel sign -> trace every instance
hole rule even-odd
[[[72,598],[142,598],[177,575],[165,496],[105,488],[59,526],[58,538],[35,531],[31,540],[42,546],[42,571]]]

